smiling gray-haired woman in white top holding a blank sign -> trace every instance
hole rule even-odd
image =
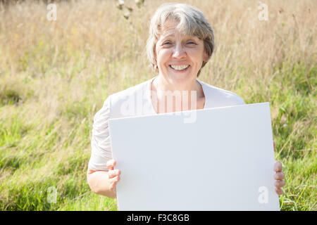
[[[213,28],[199,9],[187,4],[163,4],[157,9],[149,27],[147,56],[158,75],[108,96],[94,116],[87,171],[87,181],[94,193],[116,198],[116,184],[120,180],[120,170],[114,169],[116,161],[111,154],[110,118],[176,112],[187,110],[188,106],[199,110],[244,104],[240,96],[197,79],[214,48]],[[175,91],[187,95],[178,98],[180,107],[166,107],[166,93]],[[275,191],[281,195],[285,185],[282,164],[275,162],[274,170]]]

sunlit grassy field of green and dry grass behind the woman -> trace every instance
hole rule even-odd
[[[146,0],[0,4],[0,210],[117,210],[86,181],[94,114],[110,94],[156,74],[145,55]],[[216,51],[199,75],[246,103],[271,103],[281,210],[317,210],[317,2],[182,1],[201,9]],[[56,188],[56,202],[51,190]]]

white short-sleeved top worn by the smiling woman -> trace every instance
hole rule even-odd
[[[108,131],[109,119],[139,115],[157,115],[151,101],[151,83],[156,77],[111,94],[106,98],[102,108],[94,115],[91,142],[92,155],[89,160],[88,169],[108,170],[106,163],[112,158],[111,136]],[[237,94],[211,86],[210,84],[201,82],[199,79],[197,81],[201,84],[204,91],[204,109],[244,104],[243,99],[237,96]]]

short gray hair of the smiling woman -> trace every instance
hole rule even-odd
[[[204,14],[196,7],[188,4],[162,4],[154,13],[149,25],[149,39],[147,39],[147,58],[151,63],[151,67],[155,72],[159,72],[156,62],[155,46],[162,32],[162,28],[166,20],[173,20],[178,23],[176,27],[180,32],[185,35],[198,37],[204,41],[204,50],[208,55],[208,59],[204,61],[201,68],[211,58],[215,49],[213,27],[206,20]],[[200,74],[201,68],[197,74]]]

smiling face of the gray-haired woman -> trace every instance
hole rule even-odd
[[[208,59],[204,41],[178,32],[177,25],[177,22],[168,20],[156,43],[159,73],[173,81],[196,79],[203,61]]]

